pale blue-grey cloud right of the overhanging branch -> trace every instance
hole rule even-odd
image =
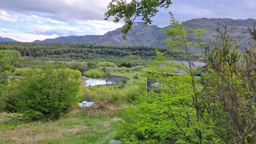
[[[173,0],[173,4],[167,9],[160,9],[153,24],[160,27],[169,25],[171,11],[178,20],[190,20],[193,18],[232,18],[232,19],[256,19],[255,0]]]

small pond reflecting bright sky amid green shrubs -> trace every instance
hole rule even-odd
[[[107,84],[106,80],[108,80],[108,84],[118,83],[122,81],[122,77],[110,76],[107,78],[87,78],[85,84],[86,86],[95,86],[95,85],[104,85]]]

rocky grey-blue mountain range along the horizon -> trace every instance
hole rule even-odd
[[[230,19],[230,18],[198,18],[185,21],[184,27],[186,29],[202,29],[205,28],[202,41],[212,42],[214,39],[211,34],[214,34],[214,29],[217,23],[227,23],[227,25],[235,27],[230,32],[236,38],[242,47],[253,44],[250,34],[247,31],[248,26],[252,27],[255,19]],[[127,34],[127,41],[121,39],[121,28],[105,33],[104,35],[86,35],[86,36],[61,36],[54,39],[36,40],[35,43],[94,43],[102,45],[148,45],[148,46],[166,46],[163,39],[164,29],[155,25],[144,25],[143,22],[136,22],[132,26],[131,31]],[[188,33],[188,38],[192,39],[193,35]]]

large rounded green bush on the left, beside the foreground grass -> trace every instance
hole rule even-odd
[[[28,70],[12,81],[7,109],[24,113],[28,121],[59,118],[75,104],[80,82],[75,70],[68,68]]]

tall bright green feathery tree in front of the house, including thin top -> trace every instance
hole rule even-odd
[[[172,16],[173,28],[166,29],[169,36],[165,40],[174,46],[172,53],[180,53],[187,64],[172,62],[173,58],[165,58],[164,53],[157,51],[156,61],[147,67],[150,73],[146,73],[149,80],[153,80],[154,88],[150,93],[145,93],[141,102],[132,111],[127,110],[124,119],[123,140],[139,142],[161,143],[207,143],[215,142],[219,138],[211,131],[210,126],[203,126],[204,113],[201,108],[199,78],[195,77],[196,68],[193,55],[189,55],[191,49],[200,49],[205,43],[200,42],[204,29],[185,30],[184,22],[175,20]],[[194,33],[195,40],[188,40],[187,33]],[[170,61],[170,62],[169,62]],[[184,75],[167,77],[167,73],[179,73],[177,68],[186,71]],[[198,70],[198,69],[197,69]],[[132,117],[132,118],[131,118]],[[139,118],[138,118],[139,117]],[[134,123],[134,124],[131,124]],[[209,122],[211,123],[211,122]]]

